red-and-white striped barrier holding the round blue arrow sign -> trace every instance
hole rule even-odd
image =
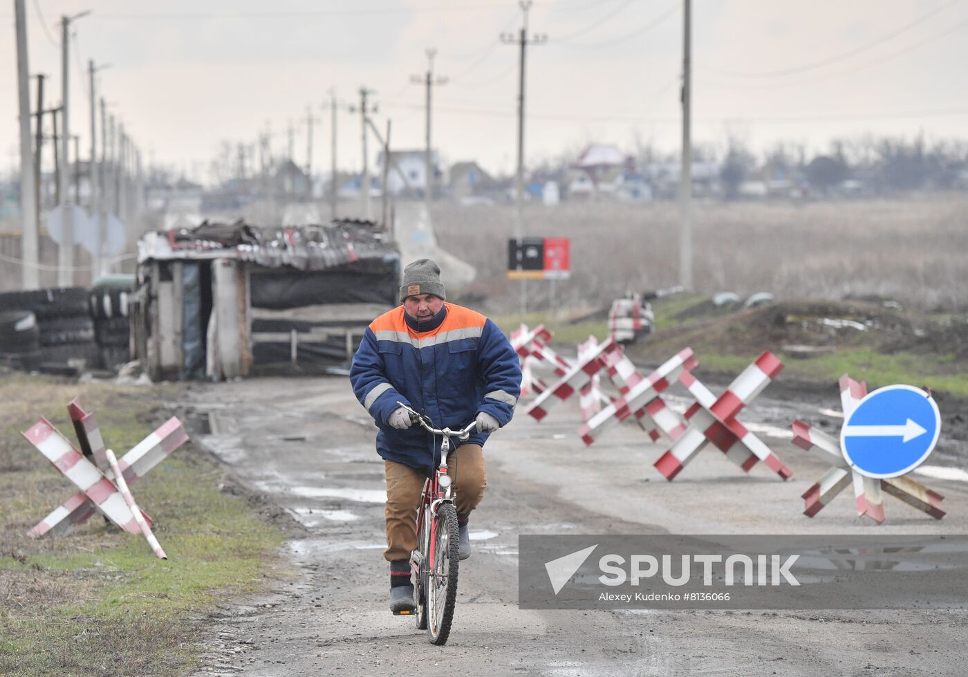
[[[846,420],[846,415],[849,415],[863,399],[867,392],[867,385],[854,381],[847,374],[840,377],[839,385],[840,402]],[[832,436],[802,420],[795,420],[792,428],[795,445],[806,450],[819,448],[827,453],[833,463],[824,477],[803,493],[803,514],[806,516],[813,517],[848,485],[854,488],[858,515],[869,517],[877,524],[883,524],[886,519],[883,494],[893,496],[935,519],[945,516],[945,510],[941,507],[945,497],[928,489],[918,480],[907,476],[880,479],[864,477],[847,464],[839,442]]]

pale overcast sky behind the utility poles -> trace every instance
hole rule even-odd
[[[448,162],[477,160],[510,172],[516,157],[521,10],[503,0],[27,0],[30,68],[60,99],[62,14],[76,21],[71,62],[72,128],[86,148],[87,60],[107,101],[145,157],[207,179],[218,142],[254,142],[266,126],[277,154],[296,130],[306,162],[306,108],[314,163],[329,167],[327,90],[358,101],[376,90],[378,126],[392,119],[391,145],[422,147],[424,88],[411,75],[439,52],[435,146]],[[625,150],[635,139],[680,144],[681,0],[535,0],[529,49],[529,160],[589,141]],[[44,28],[44,23],[47,30]],[[15,167],[16,68],[13,3],[0,26],[0,151]],[[865,133],[968,138],[968,1],[694,0],[693,137],[755,148],[780,139],[826,148]],[[32,86],[33,90],[33,86]],[[33,99],[33,94],[32,94]],[[33,101],[32,101],[33,105]],[[360,167],[359,116],[339,113],[341,169]],[[374,150],[376,143],[371,143]],[[86,152],[82,151],[86,155]]]

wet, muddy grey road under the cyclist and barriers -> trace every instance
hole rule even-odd
[[[955,675],[964,674],[968,613],[941,611],[527,611],[517,607],[517,536],[546,534],[950,533],[968,527],[968,483],[923,479],[946,496],[932,520],[886,499],[873,527],[842,494],[814,519],[802,491],[826,464],[782,439],[790,420],[839,421],[829,398],[765,395],[741,416],[794,471],[743,476],[706,450],[667,482],[662,448],[622,425],[587,448],[577,407],[546,422],[524,415],[486,447],[488,493],[470,522],[451,638],[430,645],[412,619],[387,610],[382,559],[385,486],[376,428],[342,378],[202,385],[190,405],[209,415],[201,437],[250,489],[287,509],[305,536],[289,542],[293,580],[225,605],[199,674],[401,675]],[[777,388],[782,392],[783,388]],[[770,391],[768,390],[768,393]],[[948,444],[947,465],[961,460]],[[848,492],[849,493],[849,492]]]

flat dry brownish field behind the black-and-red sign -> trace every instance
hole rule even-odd
[[[434,210],[439,244],[477,267],[472,292],[489,310],[517,307],[504,277],[510,205]],[[557,283],[562,307],[601,305],[626,290],[678,283],[676,205],[529,204],[525,234],[571,238],[572,277]],[[968,309],[968,196],[809,203],[709,203],[693,211],[697,292],[767,291],[777,298],[876,294],[922,310]],[[533,308],[548,283],[529,283]]]

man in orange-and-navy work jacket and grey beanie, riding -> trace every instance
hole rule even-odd
[[[484,496],[482,446],[511,420],[521,389],[518,355],[498,325],[446,302],[440,268],[420,259],[404,269],[402,306],[370,323],[353,355],[349,380],[377,421],[386,474],[386,550],[390,610],[412,611],[410,551],[417,546],[417,503],[439,465],[440,439],[413,426],[402,402],[455,430],[471,420],[469,440],[450,451],[460,525],[460,559],[470,556],[468,517]]]

